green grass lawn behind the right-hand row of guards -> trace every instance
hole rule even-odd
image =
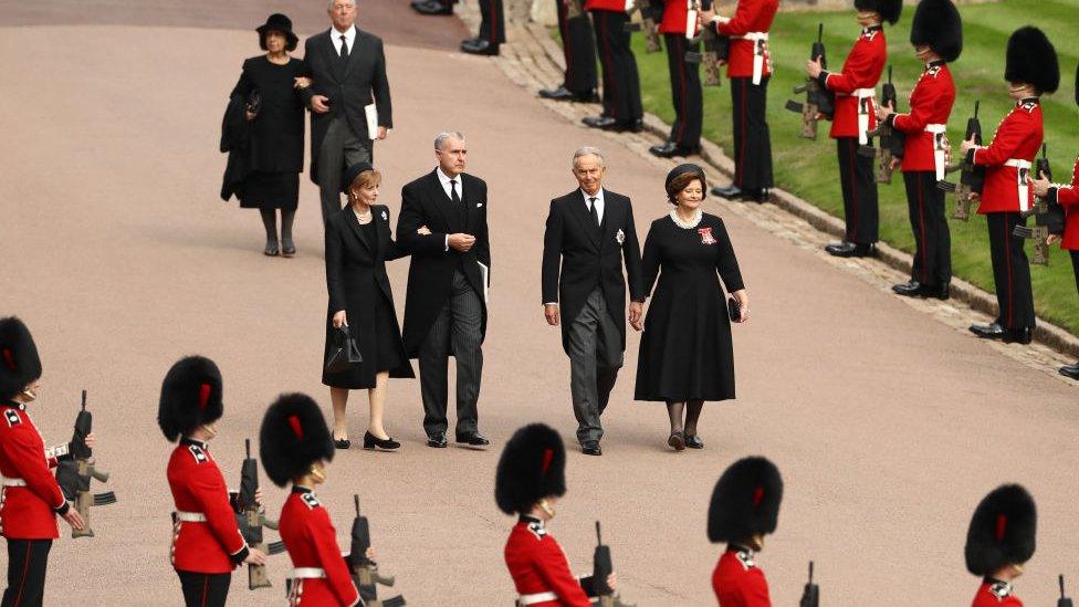
[[[1073,25],[1075,15],[1079,12],[1079,0],[1008,0],[963,6],[960,10],[964,21],[964,51],[952,65],[957,88],[955,106],[949,121],[949,137],[953,146],[957,147],[963,139],[966,119],[974,108],[975,100],[982,102],[981,118],[985,136],[992,136],[997,123],[1012,105],[1007,83],[1004,82],[1004,55],[1008,35],[1018,27],[1037,25],[1054,42],[1060,57],[1060,90],[1054,95],[1045,96],[1043,102],[1046,143],[1049,145],[1055,181],[1069,180],[1076,155],[1079,153],[1079,113],[1072,94],[1079,44],[1070,38],[1076,35]],[[900,112],[909,109],[908,95],[922,72],[922,64],[914,59],[908,41],[913,14],[913,8],[908,6],[899,23],[886,29],[889,63],[894,66],[893,80],[899,91]],[[838,70],[859,32],[853,11],[781,12],[772,29],[769,44],[775,74],[768,86],[768,123],[775,155],[775,179],[778,187],[841,218],[839,169],[835,143],[827,136],[828,125],[820,125],[816,142],[799,138],[797,134],[800,117],[783,108],[784,102],[793,96],[792,87],[805,77],[805,62],[810,43],[817,34],[818,22],[825,24],[829,66]],[[663,53],[647,54],[643,42],[643,36],[633,36],[645,108],[671,123],[674,111],[671,106],[667,57]],[[720,88],[706,86],[704,136],[730,148],[730,116],[731,92],[727,82]],[[952,199],[949,198],[949,212],[952,207]],[[1033,224],[1033,220],[1030,223]],[[972,217],[967,223],[952,220],[951,228],[955,274],[993,292],[985,219]],[[907,216],[903,179],[899,171],[892,178],[891,186],[880,186],[880,233],[888,243],[913,253],[914,239]],[[1033,254],[1029,245],[1027,254]],[[1054,247],[1049,268],[1034,266],[1033,280],[1038,314],[1073,334],[1079,334],[1079,300],[1067,253]]]

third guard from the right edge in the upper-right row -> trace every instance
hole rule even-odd
[[[911,280],[892,286],[908,297],[949,299],[952,281],[952,238],[944,213],[947,118],[955,103],[955,83],[947,64],[963,51],[963,20],[952,0],[922,0],[911,25],[914,56],[925,70],[910,96],[910,112],[878,107],[878,116],[903,134],[903,182],[914,232]]]

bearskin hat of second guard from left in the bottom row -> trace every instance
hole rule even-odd
[[[221,371],[203,356],[181,358],[161,383],[161,400],[157,407],[157,425],[165,438],[176,442],[203,423],[221,418]]]

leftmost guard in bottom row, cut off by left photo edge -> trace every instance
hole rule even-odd
[[[19,318],[0,320],[0,530],[8,541],[8,586],[2,605],[40,607],[59,514],[82,531],[83,519],[67,503],[51,471],[67,447],[45,449],[27,412],[38,398],[41,359],[30,329]],[[92,440],[87,437],[87,446]]]

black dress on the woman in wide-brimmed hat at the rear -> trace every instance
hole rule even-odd
[[[289,57],[277,65],[265,55],[243,62],[240,82],[232,95],[247,96],[258,90],[262,108],[252,121],[243,182],[237,188],[245,209],[295,210],[303,171],[304,106],[294,79],[304,76],[303,61]]]

